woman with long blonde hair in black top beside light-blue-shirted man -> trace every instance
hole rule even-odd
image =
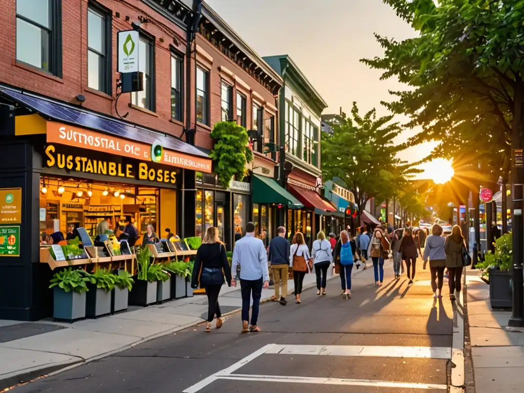
[[[227,261],[226,246],[219,238],[216,227],[210,226],[205,231],[202,245],[196,251],[193,273],[191,275],[191,288],[205,289],[208,296],[208,324],[205,332],[211,332],[211,323],[216,315],[216,329],[222,327],[222,314],[220,312],[219,294],[224,285],[231,287],[231,267]]]

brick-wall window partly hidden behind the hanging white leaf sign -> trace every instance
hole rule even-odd
[[[140,53],[138,70],[144,73],[144,90],[131,93],[131,102],[141,108],[155,111],[155,75],[153,67],[155,49],[153,41],[146,37],[140,37],[138,49]]]

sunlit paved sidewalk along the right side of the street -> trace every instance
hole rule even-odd
[[[524,328],[508,328],[509,311],[492,310],[489,286],[467,271],[467,312],[476,393],[522,391]]]

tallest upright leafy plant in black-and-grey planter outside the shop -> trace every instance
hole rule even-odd
[[[138,247],[136,253],[138,274],[135,279],[135,286],[129,292],[130,305],[146,306],[157,302],[157,275],[156,268],[151,272],[151,252],[149,247]]]

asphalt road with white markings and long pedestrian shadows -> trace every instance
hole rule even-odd
[[[240,334],[234,314],[209,334],[201,325],[163,336],[13,391],[445,392],[453,332],[447,281],[436,301],[421,266],[412,286],[405,276],[392,281],[390,263],[385,269],[380,288],[373,269],[358,275],[350,300],[335,278],[326,297],[313,289],[302,304],[289,297],[285,307],[261,305],[261,333]]]

